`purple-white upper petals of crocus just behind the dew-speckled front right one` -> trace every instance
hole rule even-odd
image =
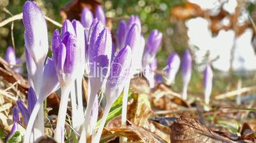
[[[125,45],[129,45],[133,51],[134,49],[139,48],[141,42],[140,39],[141,34],[139,32],[139,27],[136,23],[134,23],[127,33]]]

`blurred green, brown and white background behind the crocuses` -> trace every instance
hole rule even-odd
[[[0,22],[11,15],[22,13],[25,0],[0,0]],[[61,23],[60,8],[68,0],[37,0],[46,16]],[[174,51],[182,58],[185,49],[193,56],[193,74],[189,94],[203,97],[203,69],[211,63],[214,70],[213,95],[255,84],[256,20],[254,0],[112,0],[97,1],[103,5],[111,19],[113,31],[121,19],[138,15],[145,39],[157,28],[163,33],[162,47],[157,53],[161,70]],[[250,20],[250,17],[252,20]],[[48,22],[48,38],[57,28]],[[0,56],[8,46],[15,47],[18,56],[24,53],[24,26],[22,20],[14,22],[14,43],[11,40],[11,23],[0,27]],[[15,44],[15,45],[13,45]],[[181,92],[181,74],[172,86]]]

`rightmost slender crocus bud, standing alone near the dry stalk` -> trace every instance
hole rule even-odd
[[[211,89],[213,87],[213,71],[211,66],[207,65],[204,70],[204,102],[210,103]]]

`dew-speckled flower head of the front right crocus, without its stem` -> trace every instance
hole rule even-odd
[[[115,56],[111,64],[110,77],[108,77],[108,87],[121,85],[129,75],[131,68],[131,48],[127,45]]]

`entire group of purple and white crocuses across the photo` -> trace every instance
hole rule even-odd
[[[26,1],[23,9],[25,27],[25,56],[29,84],[27,108],[22,101],[17,101],[13,108],[13,128],[11,134],[18,130],[22,113],[27,126],[24,142],[34,142],[43,135],[44,114],[43,101],[48,95],[61,89],[60,107],[55,128],[54,139],[64,142],[64,129],[69,94],[72,104],[72,126],[80,134],[79,142],[86,142],[92,135],[92,142],[99,142],[104,124],[113,102],[122,92],[123,109],[122,125],[126,123],[127,97],[132,75],[143,71],[150,88],[162,82],[162,76],[155,75],[157,70],[157,51],[162,42],[162,33],[152,30],[145,41],[141,32],[141,21],[132,15],[128,22],[121,20],[116,42],[113,42],[111,31],[106,27],[103,8],[97,6],[96,11],[83,8],[81,22],[65,20],[61,31],[56,29],[52,35],[52,58],[48,54],[48,35],[43,13],[33,1]],[[6,61],[10,65],[17,64],[15,53],[11,47],[6,52]],[[173,53],[167,59],[166,84],[174,83],[180,68],[181,60]],[[182,60],[183,99],[187,99],[187,89],[191,78],[192,58],[187,50]],[[89,101],[83,109],[82,78],[89,76]],[[206,66],[204,71],[205,101],[209,103],[213,72]],[[101,124],[96,130],[98,116],[98,93],[106,96]]]

